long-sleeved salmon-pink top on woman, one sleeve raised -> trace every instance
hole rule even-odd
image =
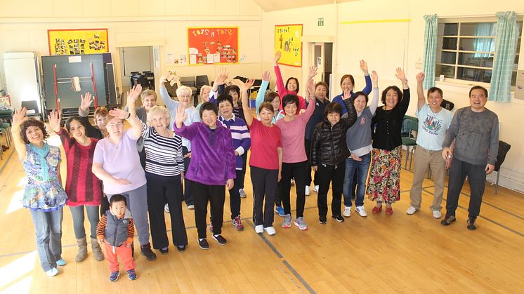
[[[310,100],[306,112],[295,116],[294,120],[286,121],[284,117],[275,123],[282,132],[282,162],[295,163],[308,160],[304,137],[306,135],[306,124],[314,110],[315,98]]]

